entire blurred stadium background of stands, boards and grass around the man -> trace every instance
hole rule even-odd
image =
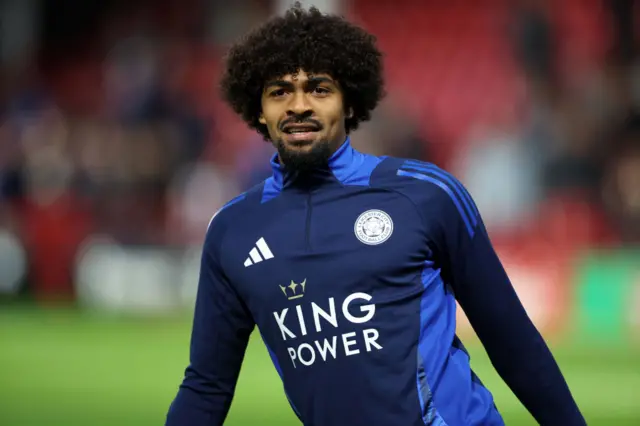
[[[0,1],[0,425],[163,423],[207,223],[269,174],[221,58],[289,3]],[[637,2],[315,4],[386,53],[354,144],[457,175],[589,425],[640,425]],[[459,332],[507,424],[535,424]],[[259,336],[227,424],[298,424]]]

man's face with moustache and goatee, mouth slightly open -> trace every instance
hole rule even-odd
[[[262,92],[260,123],[288,169],[325,166],[347,137],[348,117],[340,86],[327,74],[288,74],[268,81]]]

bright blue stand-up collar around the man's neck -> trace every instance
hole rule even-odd
[[[335,177],[342,182],[354,170],[357,170],[362,156],[363,154],[351,146],[351,140],[347,137],[338,150],[329,157],[329,170],[318,170],[318,177],[322,179],[330,175],[330,177]],[[297,173],[285,170],[278,160],[277,153],[271,157],[271,169],[273,170],[273,181],[277,190],[289,186],[297,177]]]

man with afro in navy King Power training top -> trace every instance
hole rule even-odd
[[[297,5],[231,49],[222,89],[277,155],[209,225],[167,425],[223,424],[254,326],[305,425],[502,425],[456,299],[541,424],[585,424],[462,185],[351,147],[383,94],[371,35]]]

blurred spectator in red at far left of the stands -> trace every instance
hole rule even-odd
[[[17,139],[23,156],[24,194],[20,235],[31,265],[33,292],[40,297],[73,294],[78,245],[90,232],[90,211],[77,197],[69,157],[68,122],[45,102],[19,115]]]

